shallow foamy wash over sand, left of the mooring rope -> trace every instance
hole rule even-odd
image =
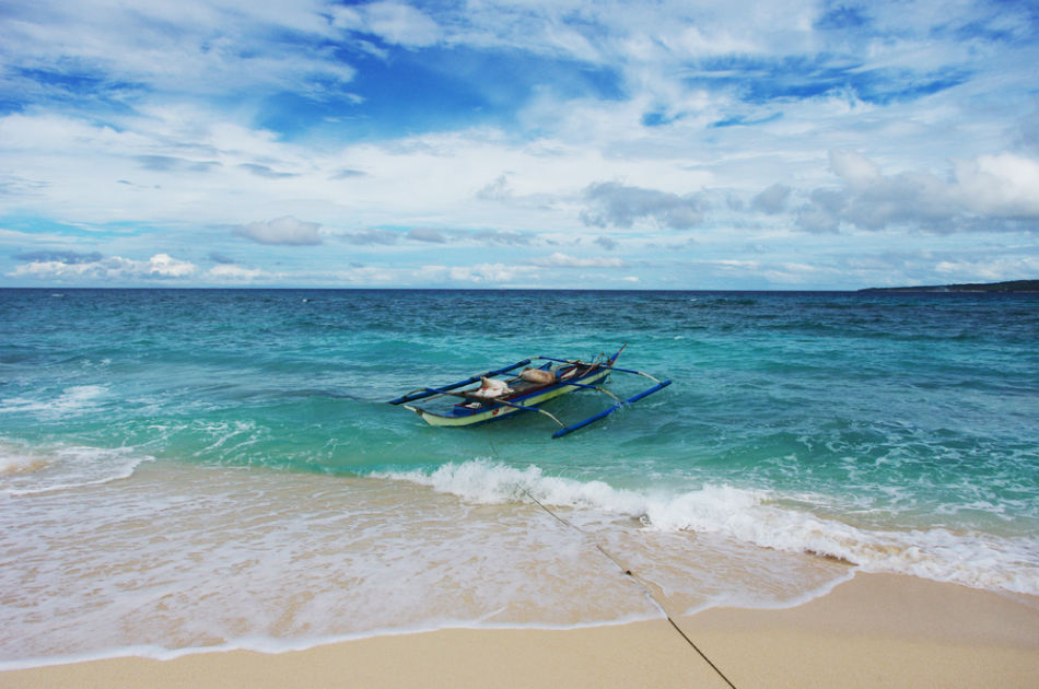
[[[397,481],[161,462],[103,491],[0,500],[0,556],[17,553],[0,663],[658,615],[547,516],[469,513]]]

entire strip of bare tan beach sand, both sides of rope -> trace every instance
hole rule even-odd
[[[267,655],[0,673],[19,687],[1039,687],[1039,600],[860,574],[782,610],[567,631],[445,630]]]

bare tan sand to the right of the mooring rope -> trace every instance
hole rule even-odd
[[[1039,687],[1039,600],[859,574],[784,610],[708,610],[687,633],[737,687]]]

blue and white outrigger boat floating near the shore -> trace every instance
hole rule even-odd
[[[624,344],[627,347],[627,344]],[[523,411],[541,413],[561,428],[552,433],[552,437],[561,437],[582,429],[589,423],[605,419],[624,405],[639,401],[643,397],[670,385],[670,381],[659,381],[652,375],[630,369],[618,369],[614,365],[624,347],[612,357],[599,354],[591,362],[576,359],[554,359],[552,357],[532,357],[518,361],[511,366],[495,369],[480,373],[465,381],[458,381],[441,387],[420,387],[407,395],[389,400],[390,405],[401,405],[405,409],[416,412],[430,425],[474,425],[488,421],[498,421],[505,417]],[[535,364],[535,362],[545,362]],[[534,364],[534,365],[532,365]],[[518,374],[517,369],[523,369]],[[630,373],[653,381],[653,386],[641,393],[621,399],[603,387],[611,373]],[[504,379],[498,376],[504,376]],[[463,389],[467,385],[480,383],[479,387]],[[553,414],[540,408],[540,405],[550,399],[567,395],[574,390],[593,389],[616,400],[616,404],[583,421],[565,424]],[[457,397],[458,401],[446,413],[429,411],[415,407],[410,402],[417,400],[433,400],[442,397]]]

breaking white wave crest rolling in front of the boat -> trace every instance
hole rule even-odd
[[[487,460],[432,472],[382,474],[479,503],[522,499],[525,492],[559,507],[640,518],[646,529],[715,534],[789,552],[844,560],[867,572],[904,573],[987,589],[1039,595],[1039,538],[1008,538],[943,527],[855,525],[782,504],[770,491],[705,484],[674,493],[616,489],[603,481],[545,476]],[[804,505],[805,497],[798,495]],[[824,499],[819,497],[819,501]]]

